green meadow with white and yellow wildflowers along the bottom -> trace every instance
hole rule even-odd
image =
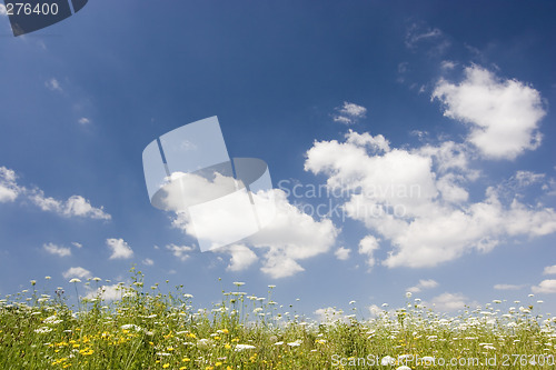
[[[370,319],[354,304],[317,321],[272,301],[274,286],[255,297],[235,282],[219,303],[193,310],[182,286],[145,287],[135,269],[117,299],[100,294],[100,279],[88,280],[51,294],[32,280],[0,300],[2,369],[555,368],[556,319],[517,301],[447,316],[408,293],[405,307],[375,309]],[[69,306],[82,284],[99,293]]]

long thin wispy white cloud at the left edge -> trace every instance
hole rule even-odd
[[[63,217],[80,217],[97,220],[110,220],[111,216],[103,208],[92,207],[90,201],[81,196],[71,196],[59,200],[44,196],[38,188],[27,189],[17,183],[13,170],[0,167],[0,203],[12,202],[18,198],[26,199],[42,211],[54,212]]]

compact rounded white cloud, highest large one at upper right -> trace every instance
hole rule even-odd
[[[444,116],[469,126],[467,140],[486,158],[515,159],[540,144],[540,93],[520,81],[471,66],[459,84],[440,79],[431,99],[444,103]]]

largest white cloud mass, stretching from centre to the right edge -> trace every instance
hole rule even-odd
[[[468,188],[479,177],[470,156],[464,143],[397,149],[381,136],[349,131],[342,142],[315,142],[305,169],[327,176],[326,186],[345,196],[345,216],[380,237],[381,246],[389,242],[381,263],[390,268],[433,267],[474,250],[488,252],[512,237],[556,231],[552,208],[523,203],[515,193],[507,200],[504,183],[469,201]],[[377,262],[369,256],[374,248],[363,251]]]

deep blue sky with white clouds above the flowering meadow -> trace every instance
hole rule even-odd
[[[44,276],[111,284],[136,263],[205,307],[222,278],[276,284],[306,314],[351,300],[367,314],[407,290],[439,310],[555,311],[555,10],[99,0],[18,38],[0,16],[0,294]],[[231,157],[268,163],[282,221],[201,253],[149,203],[141,153],[212,116]],[[292,193],[327,183],[345,197]],[[307,214],[330,201],[346,211]]]

